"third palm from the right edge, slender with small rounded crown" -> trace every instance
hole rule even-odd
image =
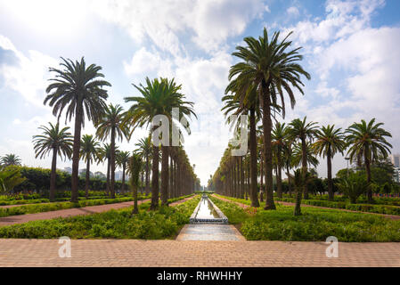
[[[298,140],[301,144],[301,167],[303,168],[303,175],[307,173],[307,153],[309,152],[307,151],[307,141],[313,140],[317,128],[316,124],[314,122],[306,123],[306,117],[303,120],[295,118],[289,124],[288,134],[293,140]],[[306,181],[306,177],[303,177],[303,180]],[[303,187],[304,199],[308,199],[307,184],[305,183]]]

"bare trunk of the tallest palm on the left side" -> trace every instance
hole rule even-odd
[[[83,117],[82,108],[82,100],[79,100],[77,104],[77,113],[75,114],[74,145],[72,148],[71,202],[73,203],[78,203],[80,131]]]

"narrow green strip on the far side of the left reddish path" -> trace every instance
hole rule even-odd
[[[147,197],[139,197],[138,199],[147,199]],[[67,208],[81,208],[87,206],[98,206],[112,203],[127,202],[133,200],[132,197],[123,197],[116,199],[85,199],[80,200],[78,203],[71,202],[54,202],[49,204],[28,204],[24,206],[17,206],[12,208],[0,208],[0,217],[2,216],[16,216],[25,214],[42,213],[49,211],[56,211]]]

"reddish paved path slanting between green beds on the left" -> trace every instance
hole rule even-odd
[[[192,199],[194,196],[176,201],[171,203],[170,206],[176,206],[180,203],[188,199]],[[138,200],[137,204],[140,205],[144,202],[148,202],[150,199]],[[118,209],[118,208],[127,208],[134,205],[134,201],[120,202],[114,204],[107,205],[99,205],[99,206],[88,206],[82,208],[68,208],[57,211],[36,213],[36,214],[26,214],[26,215],[18,215],[18,216],[4,216],[0,217],[0,226],[2,225],[11,225],[11,224],[23,224],[30,221],[37,220],[49,220],[56,217],[69,217],[69,216],[78,216],[78,215],[90,215],[94,213],[102,213],[109,211],[110,209]]]

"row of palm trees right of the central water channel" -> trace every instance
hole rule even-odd
[[[291,34],[291,33],[290,33]],[[233,157],[232,145],[224,151],[220,166],[213,176],[217,192],[239,195],[249,189],[251,206],[258,207],[257,199],[257,156],[261,154],[261,183],[265,178],[265,209],[274,209],[273,169],[277,178],[277,194],[282,197],[282,169],[290,179],[290,168],[301,166],[301,178],[306,182],[309,166],[318,164],[315,155],[327,158],[329,198],[333,199],[331,159],[336,153],[347,154],[351,161],[363,161],[368,183],[371,182],[371,162],[381,155],[387,157],[391,147],[385,137],[390,137],[372,119],[368,124],[362,120],[354,123],[345,132],[335,126],[318,128],[314,122],[294,119],[288,126],[277,121],[285,117],[284,94],[290,99],[291,108],[296,104],[294,91],[304,94],[301,76],[309,74],[298,64],[302,55],[300,47],[290,49],[292,42],[280,33],[273,33],[269,40],[266,28],[262,37],[245,37],[246,46],[237,46],[233,56],[241,61],[233,65],[229,73],[229,84],[222,98],[224,115],[246,115],[249,117],[249,159]],[[278,100],[278,98],[280,100]],[[275,123],[273,124],[273,120]],[[239,122],[228,117],[239,132]],[[258,129],[257,129],[258,126]],[[346,135],[345,135],[346,134]],[[258,148],[257,148],[258,143]],[[258,150],[257,150],[258,149]],[[249,165],[248,183],[243,177],[243,165]],[[298,177],[297,177],[298,178]],[[308,199],[306,183],[302,183],[305,199]],[[261,195],[261,198],[263,196]],[[372,200],[371,190],[368,199]]]

